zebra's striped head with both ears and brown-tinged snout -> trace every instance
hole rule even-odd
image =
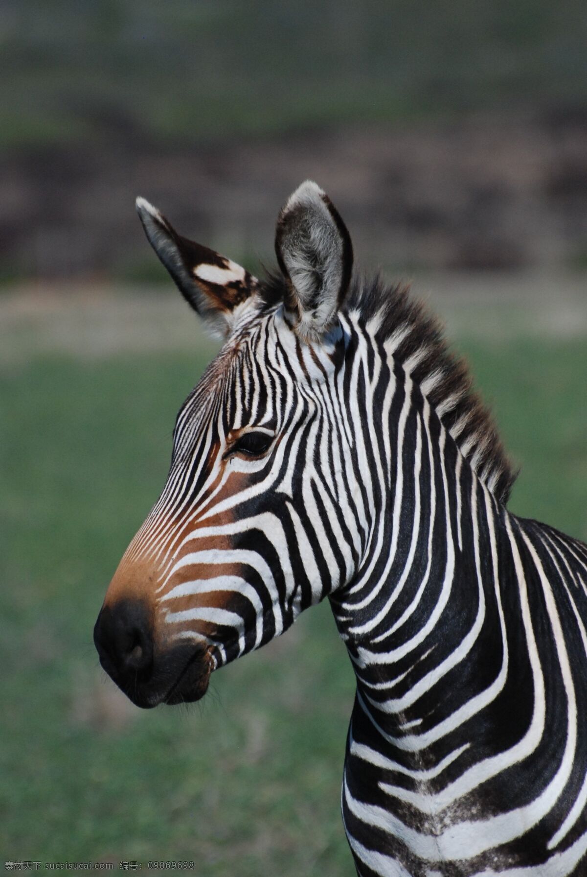
[[[170,472],[95,624],[104,669],[139,706],[194,701],[355,572],[363,534],[339,309],[350,236],[314,182],[279,214],[259,282],[139,198],[159,259],[223,347],[180,409]],[[354,452],[353,452],[354,453]],[[343,478],[334,477],[344,472]]]

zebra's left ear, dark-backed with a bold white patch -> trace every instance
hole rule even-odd
[[[226,337],[233,311],[258,289],[258,280],[236,262],[183,238],[145,198],[137,212],[155,253],[194,310],[216,334]]]

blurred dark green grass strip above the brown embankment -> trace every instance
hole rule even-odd
[[[5,0],[0,146],[266,135],[584,103],[568,0]]]

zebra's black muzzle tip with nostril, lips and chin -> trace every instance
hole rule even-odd
[[[216,667],[203,640],[156,643],[145,604],[121,600],[103,606],[94,642],[100,664],[118,688],[142,709],[199,701]]]

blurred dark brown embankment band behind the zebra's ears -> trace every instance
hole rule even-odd
[[[587,267],[587,111],[569,108],[165,149],[121,128],[108,146],[4,151],[0,262],[9,279],[157,279],[133,209],[143,195],[180,232],[254,266],[272,260],[279,206],[308,177],[364,267]]]

